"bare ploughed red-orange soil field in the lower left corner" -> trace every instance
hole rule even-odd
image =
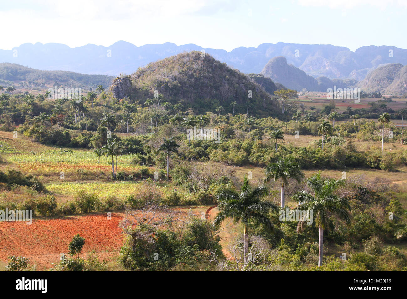
[[[118,226],[124,214],[92,214],[70,216],[50,220],[33,219],[31,225],[25,222],[0,222],[0,260],[7,262],[10,255],[24,255],[37,270],[59,263],[60,254],[68,253],[72,237],[80,234],[85,238],[82,257],[96,251],[99,258],[117,256],[123,244],[124,235]]]

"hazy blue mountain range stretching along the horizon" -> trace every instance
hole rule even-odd
[[[0,63],[10,62],[39,70],[66,70],[83,74],[116,76],[131,74],[139,67],[184,51],[205,50],[215,59],[244,73],[260,73],[267,62],[278,56],[287,59],[306,74],[330,79],[362,80],[369,70],[387,63],[407,64],[407,49],[392,46],[364,46],[355,52],[332,45],[261,44],[257,48],[239,47],[231,52],[202,48],[195,44],[147,44],[137,47],[126,41],[112,46],[70,48],[64,44],[22,44],[12,50],[0,50]]]

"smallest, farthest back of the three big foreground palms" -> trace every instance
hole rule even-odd
[[[289,179],[295,179],[300,183],[304,177],[304,172],[300,169],[300,164],[295,162],[292,157],[286,157],[284,160],[277,160],[275,163],[271,163],[266,168],[265,183],[269,183],[271,179],[277,181],[281,179],[281,208],[284,208],[285,188],[288,185]]]

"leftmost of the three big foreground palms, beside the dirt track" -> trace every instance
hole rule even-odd
[[[226,218],[233,218],[234,223],[241,221],[244,224],[243,234],[243,261],[247,262],[249,249],[248,225],[250,220],[257,220],[270,231],[274,226],[269,219],[270,212],[278,212],[278,207],[269,200],[264,200],[269,190],[264,185],[252,187],[249,185],[247,176],[243,179],[240,190],[226,189],[219,191],[215,197],[219,201],[217,206],[219,213],[214,219],[213,226],[219,229]]]

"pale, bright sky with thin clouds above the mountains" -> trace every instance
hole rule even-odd
[[[0,49],[24,43],[197,44],[278,41],[407,48],[407,0],[0,0]]]

